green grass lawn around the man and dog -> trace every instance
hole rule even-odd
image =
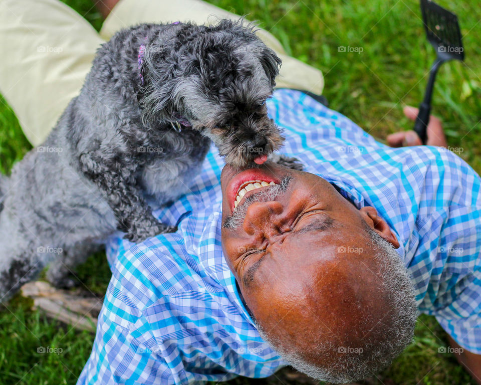
[[[89,0],[64,0],[98,30],[101,18]],[[465,63],[445,64],[438,74],[433,113],[444,121],[449,145],[481,171],[481,10],[463,0],[439,0],[458,14],[464,35]],[[333,109],[345,114],[376,137],[412,127],[402,115],[405,104],[422,99],[434,51],[426,42],[415,0],[213,0],[211,3],[258,20],[286,50],[325,74],[324,95]],[[479,24],[478,24],[479,23]],[[339,46],[363,52],[338,52]],[[15,114],[0,99],[0,168],[8,173],[31,146]],[[105,257],[92,257],[80,268],[79,279],[96,294],[109,279]],[[47,319],[17,296],[0,311],[0,383],[75,383],[92,346],[93,334]],[[443,330],[432,317],[421,316],[414,342],[384,372],[365,384],[468,384],[469,375],[446,346]],[[57,353],[41,353],[50,347]],[[267,380],[240,378],[231,383],[305,383],[289,370]]]

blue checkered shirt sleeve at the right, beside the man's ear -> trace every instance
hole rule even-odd
[[[481,179],[451,151],[422,151],[435,156],[417,209],[432,213],[416,222],[419,244],[410,265],[423,293],[419,310],[434,315],[461,347],[481,354]]]

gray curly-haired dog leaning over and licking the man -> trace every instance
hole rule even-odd
[[[283,142],[265,105],[280,65],[242,20],[117,33],[43,145],[0,179],[0,301],[55,259],[48,278],[69,285],[115,230],[175,231],[151,203],[187,192],[210,140],[234,166],[265,161]]]

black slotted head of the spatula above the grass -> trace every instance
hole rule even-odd
[[[457,16],[429,0],[421,0],[421,12],[427,39],[436,54],[443,60],[464,60]]]

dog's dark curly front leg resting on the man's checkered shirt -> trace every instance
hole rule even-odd
[[[135,167],[138,166],[135,161],[126,161],[113,169],[105,165],[105,159],[83,154],[81,162],[84,173],[97,184],[112,208],[118,221],[118,230],[127,233],[126,239],[139,242],[176,230],[174,226],[162,224],[153,217],[134,178]]]

